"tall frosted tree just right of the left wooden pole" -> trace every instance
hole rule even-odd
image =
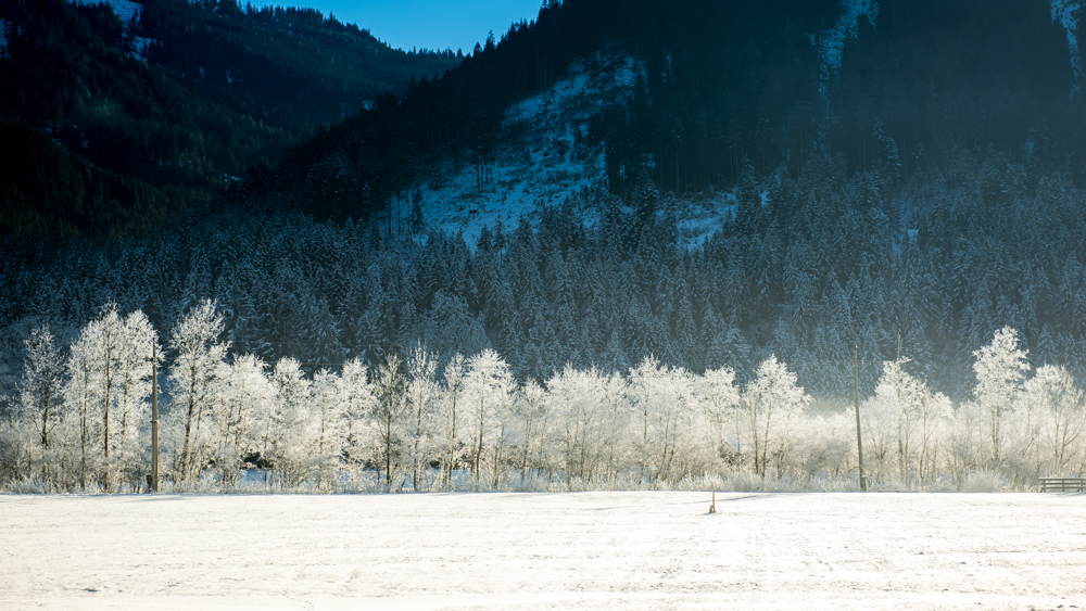
[[[210,458],[214,440],[202,428],[219,395],[224,360],[229,343],[222,340],[223,316],[215,304],[205,300],[189,310],[174,327],[169,348],[174,366],[169,383],[175,443],[175,479],[186,481],[199,476]]]

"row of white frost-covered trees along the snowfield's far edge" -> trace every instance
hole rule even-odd
[[[227,359],[223,318],[192,308],[165,351],[141,311],[101,309],[62,355],[48,329],[27,338],[21,411],[0,431],[9,480],[53,489],[139,489],[150,469],[152,364],[168,356],[162,422],[175,485],[233,485],[247,468],[283,488],[383,489],[675,485],[706,475],[849,481],[850,410],[818,410],[771,356],[753,380],[695,374],[646,358],[623,373],[567,366],[518,383],[487,349],[416,346],[370,370],[359,360],[312,377],[283,358]],[[911,487],[960,485],[978,470],[1028,485],[1086,470],[1084,394],[1061,367],[1035,371],[1014,330],[974,353],[974,398],[955,406],[884,364],[860,408],[869,476]]]

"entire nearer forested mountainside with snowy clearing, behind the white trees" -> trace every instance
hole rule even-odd
[[[212,297],[236,352],[310,370],[419,340],[535,379],[649,354],[742,379],[776,354],[842,397],[856,349],[864,392],[902,357],[960,398],[1011,326],[1083,378],[1069,7],[548,3],[254,168],[206,221],[3,242],[9,371],[36,324],[70,334],[115,300],[164,328]]]

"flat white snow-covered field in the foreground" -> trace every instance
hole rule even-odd
[[[1086,608],[1086,496],[0,496],[3,609]]]

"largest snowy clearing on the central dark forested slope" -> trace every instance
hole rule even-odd
[[[426,225],[463,232],[473,249],[483,227],[501,222],[513,229],[544,206],[569,202],[588,225],[597,222],[592,202],[607,190],[606,160],[598,143],[584,141],[589,123],[609,105],[626,103],[639,73],[644,64],[631,58],[597,54],[546,91],[513,104],[481,187],[476,166],[460,160],[446,161],[421,189]]]

